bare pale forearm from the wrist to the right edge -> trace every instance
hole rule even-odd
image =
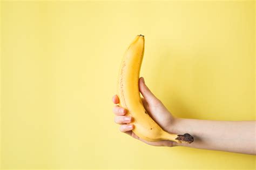
[[[256,121],[212,121],[175,118],[170,132],[189,133],[191,144],[174,144],[201,149],[256,154]]]

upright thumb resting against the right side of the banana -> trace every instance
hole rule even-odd
[[[146,86],[145,80],[143,77],[139,78],[139,91],[142,93],[142,96],[150,105],[157,105],[159,100],[154,94],[150,91],[149,87]]]

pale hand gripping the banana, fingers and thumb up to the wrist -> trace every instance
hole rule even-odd
[[[147,113],[149,113],[150,117],[156,121],[156,123],[163,128],[166,132],[170,132],[171,124],[174,119],[172,114],[167,110],[167,108],[161,103],[161,101],[154,96],[154,94],[149,90],[146,86],[144,78],[139,79],[139,91],[142,93],[142,101],[144,108]],[[119,98],[117,95],[114,95],[112,98],[114,104],[117,104],[113,107],[113,113],[116,114],[114,117],[114,122],[120,124],[120,131],[126,134],[131,135],[131,137],[135,139],[139,139],[146,144],[153,146],[173,146],[173,141],[170,140],[160,140],[160,141],[146,141],[140,139],[136,134],[132,132],[134,125],[132,124],[133,118],[130,116],[126,116],[127,110],[123,107],[118,106]]]

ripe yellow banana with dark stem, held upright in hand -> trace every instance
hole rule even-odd
[[[147,141],[172,140],[179,143],[191,143],[190,134],[172,134],[164,131],[147,114],[139,93],[139,73],[144,55],[144,36],[138,35],[125,52],[119,69],[117,95],[119,106],[127,109],[127,115],[133,117],[133,132]]]

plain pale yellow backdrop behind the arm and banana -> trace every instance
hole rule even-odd
[[[1,2],[1,167],[255,168],[255,156],[153,147],[119,132],[127,45],[178,117],[255,120],[254,1]],[[230,141],[232,142],[232,141]]]

